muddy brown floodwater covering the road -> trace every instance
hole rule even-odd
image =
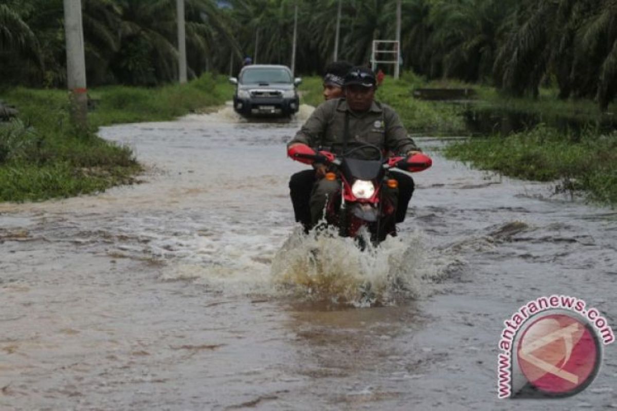
[[[304,166],[284,150],[299,125],[226,108],[104,128],[142,184],[0,204],[0,409],[617,408],[614,346],[569,399],[498,401],[496,381],[503,320],[531,299],[617,324],[615,211],[418,139],[434,166],[400,237],[370,253],[304,238],[287,188]],[[368,282],[383,304],[366,307]]]

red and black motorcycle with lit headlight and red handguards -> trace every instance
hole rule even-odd
[[[375,153],[375,160],[363,160],[367,152]],[[433,160],[423,153],[411,157],[395,155],[384,158],[379,147],[362,144],[337,156],[328,151],[311,149],[308,145],[294,145],[288,150],[292,160],[305,164],[323,163],[331,170],[325,178],[338,181],[341,189],[328,198],[325,219],[328,224],[338,227],[342,237],[357,237],[362,227],[366,227],[371,242],[378,244],[388,234],[395,235],[395,213],[398,181],[389,175],[392,168],[417,173],[429,168]]]

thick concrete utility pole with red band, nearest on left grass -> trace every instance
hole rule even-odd
[[[71,120],[73,125],[85,131],[88,128],[88,90],[81,0],[64,0],[64,31],[67,43],[68,90],[71,93]]]

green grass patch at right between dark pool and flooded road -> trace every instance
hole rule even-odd
[[[455,142],[445,155],[507,176],[560,180],[561,189],[586,190],[595,201],[617,204],[617,132],[564,134],[540,125],[510,136]]]

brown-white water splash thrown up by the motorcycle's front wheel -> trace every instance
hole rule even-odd
[[[272,280],[297,298],[390,305],[425,295],[429,283],[441,277],[441,267],[429,263],[425,244],[424,235],[415,231],[360,250],[354,239],[338,237],[334,229],[318,235],[297,230],[276,254]]]

